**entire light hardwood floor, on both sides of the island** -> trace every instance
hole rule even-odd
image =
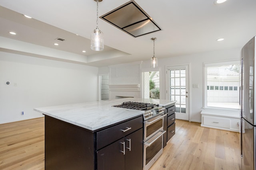
[[[0,170],[44,169],[44,118],[0,125]],[[176,120],[176,134],[150,170],[240,170],[239,133]]]

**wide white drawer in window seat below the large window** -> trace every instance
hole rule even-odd
[[[230,119],[204,116],[204,125],[230,128]]]

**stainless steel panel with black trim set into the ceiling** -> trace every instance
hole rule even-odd
[[[100,16],[100,18],[133,37],[162,30],[134,0]]]

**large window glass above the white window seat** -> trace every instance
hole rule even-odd
[[[239,109],[240,61],[204,64],[204,107]]]

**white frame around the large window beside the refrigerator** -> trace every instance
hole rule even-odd
[[[203,108],[205,108],[205,109],[207,109],[207,108],[208,109],[220,109],[220,110],[234,110],[234,111],[239,110],[239,109],[235,109],[235,108],[207,106],[207,67],[222,66],[222,65],[234,65],[234,64],[240,65],[240,74],[241,74],[241,61],[240,60],[216,61],[216,62],[211,62],[211,63],[203,63]],[[239,82],[239,85],[240,85],[240,83],[241,82]],[[219,90],[220,90],[220,87],[219,87]],[[224,86],[223,86],[223,91],[224,91]]]

